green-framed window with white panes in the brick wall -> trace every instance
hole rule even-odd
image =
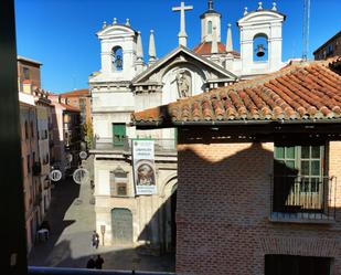
[[[328,184],[323,174],[323,145],[275,145],[274,210],[322,210]]]

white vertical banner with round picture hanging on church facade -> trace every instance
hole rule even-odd
[[[132,163],[136,194],[157,193],[153,140],[132,139]]]

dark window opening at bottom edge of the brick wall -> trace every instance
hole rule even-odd
[[[265,275],[330,275],[329,257],[265,255]]]

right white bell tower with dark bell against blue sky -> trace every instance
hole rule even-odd
[[[281,29],[286,17],[277,11],[276,3],[271,9],[264,9],[258,2],[256,11],[247,11],[238,20],[241,30],[242,74],[254,75],[270,73],[283,66]]]

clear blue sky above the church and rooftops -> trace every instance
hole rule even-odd
[[[222,13],[222,40],[226,25],[233,25],[234,49],[239,49],[236,21],[244,7],[257,8],[257,0],[214,0]],[[263,1],[270,8],[273,1]],[[283,60],[300,57],[302,52],[303,0],[278,0],[278,11],[287,15],[284,24]],[[145,59],[148,57],[149,30],[154,30],[158,57],[178,46],[179,12],[171,7],[180,0],[15,0],[18,54],[38,60],[42,66],[42,87],[56,93],[87,87],[88,75],[100,68],[99,41],[95,33],[103,21],[124,23],[141,31]],[[188,46],[200,42],[200,14],[206,0],[188,0],[194,9],[187,12]],[[312,52],[341,29],[341,0],[311,0],[310,59]]]

